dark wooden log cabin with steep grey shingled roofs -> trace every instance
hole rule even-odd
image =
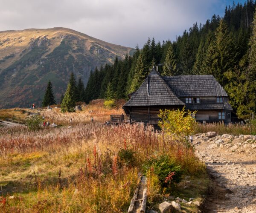
[[[161,76],[154,68],[123,109],[130,122],[156,125],[159,109],[184,106],[198,122],[231,122],[227,92],[212,75]]]

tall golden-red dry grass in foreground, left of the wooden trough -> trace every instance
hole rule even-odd
[[[187,173],[204,167],[191,148],[140,124],[2,132],[0,173],[8,184],[1,210],[7,212],[127,211],[146,159],[170,155]],[[121,148],[134,151],[134,166],[120,163]]]

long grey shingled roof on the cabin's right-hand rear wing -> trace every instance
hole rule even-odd
[[[227,92],[212,75],[177,75],[162,78],[180,97],[227,97]]]

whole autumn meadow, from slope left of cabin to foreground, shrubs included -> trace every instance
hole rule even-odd
[[[148,177],[148,209],[157,210],[169,196],[204,200],[210,181],[193,147],[151,126],[103,125],[123,112],[120,106],[105,109],[96,100],[81,112],[35,111],[56,128],[1,127],[0,212],[125,212],[140,173]],[[169,170],[161,177],[166,168],[156,165],[163,161],[180,171],[179,181]],[[182,210],[197,211],[185,204]]]

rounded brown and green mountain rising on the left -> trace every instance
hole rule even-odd
[[[96,66],[133,52],[67,28],[2,31],[0,108],[40,106],[49,80],[58,100],[71,72],[86,84]]]

